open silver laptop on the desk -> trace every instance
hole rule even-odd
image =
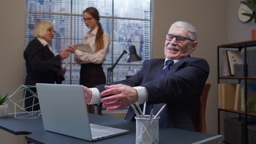
[[[95,141],[128,133],[128,130],[90,124],[83,86],[37,83],[44,129]]]

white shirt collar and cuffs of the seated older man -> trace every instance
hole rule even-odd
[[[165,58],[165,62],[168,59]],[[177,63],[180,59],[173,60],[174,64]],[[174,65],[173,64],[173,65]],[[171,66],[172,67],[172,66]],[[164,63],[164,68],[166,68],[166,63]],[[138,93],[138,104],[143,104],[145,101],[148,101],[148,91],[146,87],[142,86],[137,86],[137,87],[132,87],[135,88],[137,93]],[[92,97],[91,97],[91,102],[89,104],[99,104],[101,103],[101,93],[98,91],[97,88],[90,88],[92,92]]]

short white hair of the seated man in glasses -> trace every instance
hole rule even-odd
[[[174,22],[171,27],[185,28],[185,29],[187,29],[189,31],[189,34],[188,34],[188,38],[189,39],[193,39],[193,40],[197,39],[196,28],[193,25],[191,25],[190,23],[188,23],[188,22],[177,21],[177,22]]]

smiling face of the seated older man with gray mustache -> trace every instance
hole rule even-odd
[[[189,31],[181,27],[171,27],[168,33],[188,38]],[[172,40],[165,40],[165,57],[172,60],[183,58],[193,52],[196,45],[197,41],[188,39],[185,39],[184,43],[178,43],[176,37]]]

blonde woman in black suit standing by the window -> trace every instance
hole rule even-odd
[[[54,26],[49,21],[40,21],[34,28],[35,37],[27,45],[24,51],[26,61],[27,76],[25,85],[35,86],[36,83],[61,83],[64,79],[66,69],[61,68],[61,61],[69,56],[69,50],[62,50],[59,55],[54,56],[51,51],[50,42],[54,37]],[[31,89],[36,93],[36,88]],[[39,110],[38,99],[30,97],[30,93],[25,95],[25,108],[27,111]],[[37,104],[33,107],[33,104]]]

